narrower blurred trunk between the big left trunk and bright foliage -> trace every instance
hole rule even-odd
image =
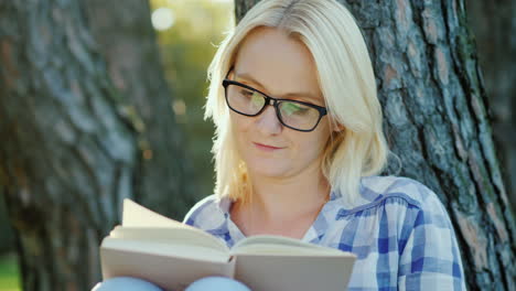
[[[139,117],[142,154],[135,179],[136,200],[166,216],[182,219],[201,196],[192,183],[184,134],[172,110],[151,26],[149,1],[88,0],[88,22],[109,76]],[[202,194],[202,193],[201,193]]]

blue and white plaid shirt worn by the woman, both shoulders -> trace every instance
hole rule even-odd
[[[369,176],[359,192],[345,207],[332,191],[302,238],[357,256],[348,290],[465,290],[455,234],[432,191],[406,177]],[[184,222],[232,247],[245,236],[230,219],[230,204],[211,195]]]

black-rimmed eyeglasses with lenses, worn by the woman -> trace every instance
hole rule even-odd
[[[227,106],[244,116],[259,116],[267,105],[272,105],[281,125],[299,131],[312,131],[327,114],[325,107],[314,104],[272,98],[252,87],[232,79],[224,79]]]

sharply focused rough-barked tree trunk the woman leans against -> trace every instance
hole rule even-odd
[[[236,19],[256,2],[237,0]],[[424,183],[447,206],[469,289],[516,290],[516,227],[464,1],[341,2],[369,45],[398,174]]]

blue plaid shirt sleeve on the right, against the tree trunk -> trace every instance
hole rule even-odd
[[[398,290],[465,290],[453,226],[437,195],[427,191],[420,207],[407,213],[412,223],[401,231],[405,247],[399,258]]]

